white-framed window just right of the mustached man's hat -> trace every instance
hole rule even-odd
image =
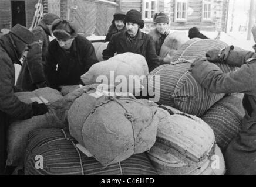
[[[157,12],[157,0],[144,0],[142,6],[142,16],[145,21],[153,21]]]

